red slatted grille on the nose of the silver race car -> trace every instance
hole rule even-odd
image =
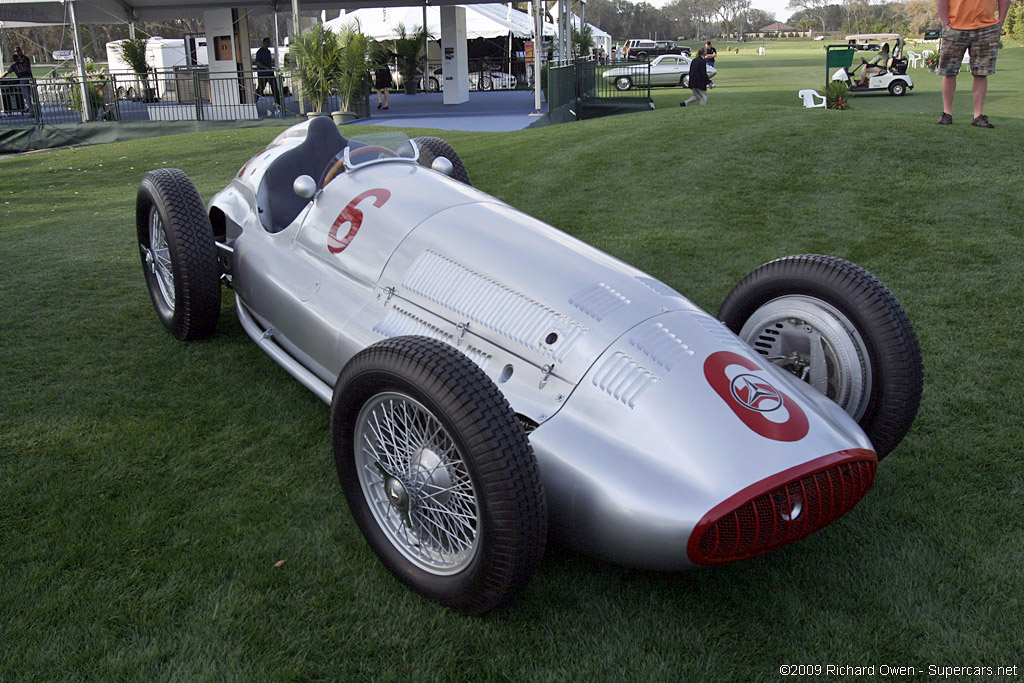
[[[718,564],[799,541],[849,512],[877,468],[870,451],[844,451],[759,481],[706,514],[687,553],[696,564]]]

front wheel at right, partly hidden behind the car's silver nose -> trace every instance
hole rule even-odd
[[[812,254],[765,263],[739,281],[718,317],[843,407],[880,460],[913,423],[924,372],[918,338],[893,293],[860,266]],[[817,365],[797,350],[811,340],[823,351]]]

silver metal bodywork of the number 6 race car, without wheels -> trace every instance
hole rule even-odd
[[[712,551],[728,531],[716,524],[741,525],[729,515],[744,505],[767,515],[757,532],[787,543],[870,486],[870,442],[822,394],[664,283],[440,172],[351,168],[268,231],[266,168],[307,125],[251,160],[210,212],[233,250],[243,327],[325,401],[375,342],[451,344],[536,425],[556,537],[626,565],[738,559]],[[843,494],[851,476],[859,488]]]

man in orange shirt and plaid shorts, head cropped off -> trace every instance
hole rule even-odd
[[[971,75],[974,84],[974,121],[972,126],[994,128],[982,114],[988,76],[995,73],[995,55],[999,49],[1002,20],[1007,18],[1010,0],[936,0],[942,22],[942,48],[938,74],[942,76],[942,118],[936,123],[953,122],[953,94],[964,52],[971,50]]]

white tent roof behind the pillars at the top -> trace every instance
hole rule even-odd
[[[410,33],[423,26],[423,7],[379,7],[357,9],[346,12],[336,19],[325,23],[328,29],[346,26],[355,19],[359,31],[374,40],[393,40],[398,37],[397,26],[401,24]],[[427,7],[427,31],[435,39],[441,35],[440,9]],[[529,14],[512,9],[509,5],[483,4],[466,5],[466,38],[505,38],[512,34],[516,38],[534,37],[534,20]],[[554,36],[555,27],[544,25],[544,35]]]

